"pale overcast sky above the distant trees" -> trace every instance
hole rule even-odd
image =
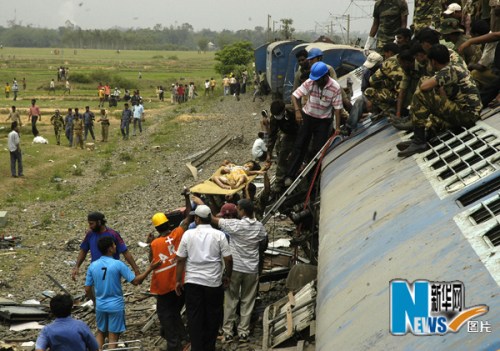
[[[281,18],[292,18],[298,31],[321,32],[326,25],[335,33],[347,28],[347,14],[351,15],[351,29],[368,32],[374,0],[3,0],[0,25],[9,20],[22,25],[57,28],[67,20],[83,29],[152,28],[155,24],[177,26],[189,23],[195,31],[209,28],[278,29]],[[410,13],[413,1],[409,1]]]

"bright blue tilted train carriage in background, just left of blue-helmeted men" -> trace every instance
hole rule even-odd
[[[266,53],[266,79],[273,98],[283,98],[283,84],[292,49],[302,40],[283,40],[271,43]]]

